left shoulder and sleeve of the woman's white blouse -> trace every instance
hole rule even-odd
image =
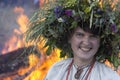
[[[49,69],[44,80],[48,80],[48,79],[55,80],[58,76],[61,76],[61,73],[63,74],[64,71],[68,69],[68,66],[71,61],[72,61],[72,58],[67,58],[54,63],[53,66]]]

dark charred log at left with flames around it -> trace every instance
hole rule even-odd
[[[38,53],[36,49],[30,52],[33,48],[33,46],[22,47],[7,54],[0,55],[0,80],[7,76],[18,75],[18,69],[29,66],[28,56],[31,53]]]

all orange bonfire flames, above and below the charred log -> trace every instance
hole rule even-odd
[[[40,0],[42,1],[42,0]],[[22,7],[15,7],[14,12],[19,14],[17,17],[17,23],[19,25],[19,29],[14,29],[14,35],[10,38],[8,42],[5,44],[5,48],[2,53],[7,53],[9,51],[15,50],[17,48],[23,47],[24,42],[21,38],[23,33],[26,31],[26,24],[28,22],[28,17],[24,14],[24,9]],[[12,80],[22,78],[22,80],[43,80],[47,71],[56,61],[61,60],[59,58],[59,50],[52,52],[52,55],[46,56],[45,49],[42,49],[43,44],[39,44],[38,47],[40,49],[41,56],[40,58],[34,54],[29,55],[29,66],[26,68],[21,68],[17,71],[19,76],[9,76],[4,78],[3,80]],[[56,53],[57,52],[57,53]],[[107,61],[106,64],[109,65]],[[110,64],[111,66],[111,64]],[[27,76],[25,74],[28,74]]]

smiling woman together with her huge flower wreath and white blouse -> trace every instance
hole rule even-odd
[[[35,15],[39,18],[31,22],[27,39],[44,37],[47,54],[59,48],[60,57],[68,57],[55,63],[44,80],[120,80],[103,64],[107,59],[115,68],[120,65],[120,12],[110,5],[99,0],[59,0]]]

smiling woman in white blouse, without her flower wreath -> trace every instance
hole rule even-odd
[[[75,28],[69,38],[74,57],[54,64],[44,80],[120,80],[115,71],[95,60],[100,46],[98,30],[84,27]]]

